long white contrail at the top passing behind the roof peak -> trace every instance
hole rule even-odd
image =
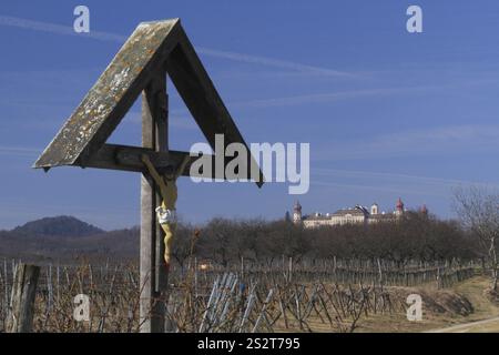
[[[84,38],[90,38],[93,40],[108,41],[108,42],[123,43],[126,40],[126,37],[121,36],[121,34],[100,32],[100,31],[91,31],[89,33],[77,33],[77,32],[74,32],[72,27],[49,23],[49,22],[33,21],[33,20],[2,16],[2,14],[0,14],[0,26],[16,27],[16,28],[21,28],[21,29],[27,29],[27,30],[50,32],[50,33],[63,34],[63,36],[78,36],[78,37],[84,37]],[[236,52],[230,52],[230,51],[220,51],[220,50],[214,50],[214,49],[204,48],[204,47],[196,47],[196,51],[198,53],[202,53],[204,55],[212,57],[212,58],[220,58],[220,59],[226,59],[226,60],[232,60],[232,61],[237,61],[237,62],[245,62],[245,63],[259,64],[259,65],[271,67],[271,68],[293,70],[293,71],[297,71],[297,72],[306,72],[309,74],[345,77],[345,78],[357,77],[356,74],[353,74],[353,73],[332,70],[332,69],[327,69],[327,68],[305,65],[305,64],[299,64],[299,63],[295,63],[295,62],[291,62],[291,61],[278,60],[278,59],[266,58],[266,57],[249,55],[249,54],[236,53]]]

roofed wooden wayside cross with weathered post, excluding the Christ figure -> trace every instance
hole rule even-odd
[[[34,168],[72,165],[142,173],[140,241],[141,332],[162,333],[165,324],[167,268],[163,261],[164,234],[155,209],[161,204],[159,186],[144,164],[160,173],[191,175],[196,158],[169,148],[166,75],[215,150],[215,135],[247,145],[195,53],[180,20],[141,23],[110,65],[34,163]],[[105,143],[123,116],[142,94],[142,146]],[[248,150],[249,151],[249,150]],[[251,154],[248,166],[256,164]],[[214,160],[214,156],[211,156]],[[182,162],[185,162],[183,165]],[[214,166],[215,164],[212,164]],[[248,179],[251,169],[248,171]],[[193,172],[215,176],[212,172]],[[263,174],[256,184],[263,184]]]

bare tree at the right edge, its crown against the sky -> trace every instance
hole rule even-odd
[[[491,273],[491,290],[498,283],[499,194],[482,187],[455,192],[456,211],[461,222],[478,239]]]

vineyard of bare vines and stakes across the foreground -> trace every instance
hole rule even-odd
[[[354,332],[363,316],[403,314],[397,287],[446,288],[475,275],[472,263],[324,260],[265,264],[241,260],[222,267],[191,260],[173,266],[165,302],[169,332]],[[6,329],[16,262],[0,277],[0,332]],[[34,308],[35,332],[139,332],[136,265],[45,265]],[[74,297],[90,300],[90,317],[77,322]]]

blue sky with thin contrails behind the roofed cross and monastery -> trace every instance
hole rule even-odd
[[[91,36],[71,33],[90,8]],[[419,4],[424,33],[406,31]],[[377,202],[452,217],[452,189],[499,186],[497,1],[3,1],[0,229],[72,214],[139,223],[139,175],[30,166],[141,21],[181,18],[248,142],[310,143],[310,190],[180,182],[184,220]],[[173,85],[171,146],[204,141]],[[140,105],[111,138],[139,144]]]

